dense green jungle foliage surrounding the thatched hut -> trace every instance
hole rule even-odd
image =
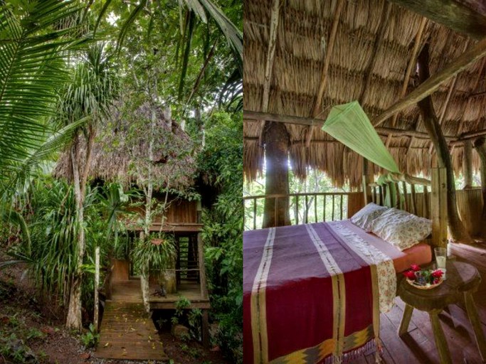
[[[117,218],[144,203],[146,227],[164,213],[152,193],[175,193],[204,202],[213,344],[242,360],[242,13],[242,1],[0,1],[0,247],[11,257],[0,267],[22,262],[68,327],[93,320],[95,247],[105,267],[129,254]],[[191,142],[172,140],[153,110]],[[132,153],[137,183],[94,181],[94,145],[120,127],[105,148]],[[161,177],[154,154],[194,168]],[[63,156],[68,180],[52,176]]]

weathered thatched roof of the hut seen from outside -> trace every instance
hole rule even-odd
[[[196,161],[191,138],[161,108],[155,108],[154,112],[157,121],[154,124],[153,158],[150,161],[148,151],[152,108],[145,103],[130,114],[121,105],[112,109],[110,120],[105,122],[95,139],[91,178],[142,186],[151,166],[156,189],[169,186],[183,191],[194,184]],[[84,155],[83,141],[82,160]],[[53,175],[72,179],[73,169],[68,151],[60,155]]]

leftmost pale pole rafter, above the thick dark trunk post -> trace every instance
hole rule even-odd
[[[272,1],[270,14],[270,34],[268,37],[267,61],[265,63],[265,78],[263,80],[262,111],[268,112],[268,100],[270,99],[270,85],[272,84],[273,59],[277,48],[278,21],[280,18],[280,0]],[[265,120],[261,121],[260,144],[263,139],[263,127]]]

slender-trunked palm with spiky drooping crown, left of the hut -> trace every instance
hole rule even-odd
[[[82,266],[85,255],[85,229],[83,203],[86,184],[90,172],[93,144],[97,126],[107,115],[114,100],[117,79],[110,57],[105,53],[105,44],[97,43],[88,48],[81,59],[77,60],[73,80],[65,88],[58,105],[58,120],[64,125],[85,119],[83,127],[73,134],[70,144],[70,164],[73,170],[73,186],[76,201],[78,225],[77,269],[70,285],[70,300],[66,326],[80,330],[81,322],[81,283]]]

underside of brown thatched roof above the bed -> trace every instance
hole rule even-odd
[[[337,20],[334,49],[329,53],[324,93],[317,114],[313,114],[339,1],[287,0],[280,3],[270,92],[268,105],[265,105],[272,1],[245,0],[245,111],[324,120],[330,107],[359,100],[371,119],[403,97],[404,85],[406,93],[416,87],[414,68],[411,76],[406,77],[416,43],[418,50],[426,42],[430,44],[431,75],[477,43],[388,1],[344,1]],[[456,173],[460,173],[463,159],[463,145],[457,141],[458,137],[486,129],[486,95],[480,94],[486,90],[483,66],[483,60],[473,63],[459,73],[457,79],[452,77],[443,83],[432,96],[438,117],[444,112],[441,122],[444,134],[455,140],[450,149]],[[368,78],[369,87],[366,87]],[[446,102],[449,92],[450,100]],[[346,182],[359,186],[361,156],[333,141],[317,127],[313,128],[312,141],[306,146],[309,127],[285,125],[290,134],[292,169],[297,176],[304,178],[307,168],[320,168],[327,171],[337,186]],[[384,142],[390,134],[384,128],[426,133],[416,106],[403,109],[396,119],[391,117],[380,127],[379,134]],[[249,179],[255,178],[263,168],[262,131],[263,122],[245,118],[244,168],[245,177]],[[428,175],[430,166],[435,163],[430,139],[425,134],[390,135],[387,144],[401,170]],[[474,168],[479,167],[476,153],[473,164]]]

